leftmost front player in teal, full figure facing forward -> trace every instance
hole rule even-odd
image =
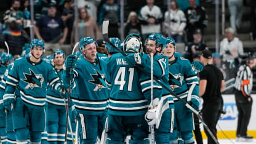
[[[41,132],[45,129],[47,83],[56,91],[65,90],[60,78],[49,63],[41,59],[44,42],[33,39],[30,43],[31,56],[15,60],[6,79],[3,96],[4,108],[13,111],[13,126],[17,143],[41,142]],[[15,88],[20,95],[15,95]],[[28,135],[29,134],[29,135]]]

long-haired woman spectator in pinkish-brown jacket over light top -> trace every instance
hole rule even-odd
[[[71,33],[71,44],[74,44],[74,36],[75,36],[75,28],[78,27],[78,39],[82,39],[84,37],[92,37],[94,39],[97,39],[97,31],[98,26],[94,18],[90,17],[88,15],[86,8],[79,9],[79,20],[78,25],[73,25],[73,30]]]

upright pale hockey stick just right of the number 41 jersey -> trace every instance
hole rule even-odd
[[[151,58],[151,74],[150,74],[150,78],[151,78],[151,102],[150,102],[150,107],[151,109],[153,109],[153,65],[154,65],[154,55],[153,53],[150,54],[150,58]],[[150,144],[154,144],[154,125],[150,126]]]

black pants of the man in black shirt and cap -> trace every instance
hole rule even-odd
[[[220,97],[213,97],[208,102],[209,103],[204,103],[202,107],[202,119],[207,124],[212,134],[214,134],[214,137],[217,138],[216,125],[222,113],[223,101]],[[205,127],[204,132],[206,132],[208,144],[215,144],[214,139],[210,137]]]

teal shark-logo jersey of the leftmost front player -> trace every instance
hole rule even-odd
[[[15,60],[6,79],[4,98],[14,95],[15,87],[20,91],[22,102],[31,108],[44,108],[47,84],[55,86],[60,82],[54,67],[44,60],[31,62],[29,57]]]

